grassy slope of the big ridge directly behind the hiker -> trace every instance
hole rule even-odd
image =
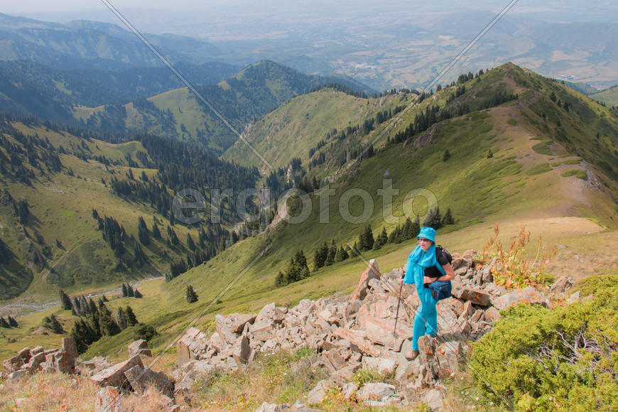
[[[519,227],[526,225],[533,239],[541,234],[546,244],[560,245],[560,259],[549,266],[551,273],[578,277],[618,271],[618,262],[612,257],[614,251],[611,246],[617,240],[616,232],[612,231],[617,219],[613,200],[617,193],[615,183],[595,169],[592,163],[580,161],[577,153],[573,153],[577,150],[589,158],[583,149],[587,149],[585,139],[592,131],[581,122],[576,123],[573,113],[558,110],[553,113],[549,106],[546,109],[548,120],[541,121],[531,105],[536,102],[548,104],[548,99],[527,91],[527,86],[521,82],[522,79],[526,82],[541,80],[511,66],[501,67],[500,70],[502,72],[487,75],[479,87],[503,82],[506,74],[506,87],[520,93],[519,102],[445,121],[431,129],[431,143],[428,146],[389,146],[376,156],[347,168],[342,172],[339,183],[332,186],[335,196],[330,199],[329,224],[318,222],[318,199],[314,197],[313,215],[304,224],[284,225],[275,232],[239,242],[170,283],[164,283],[161,279],[143,283],[141,290],[145,298],[131,300],[130,303],[141,321],[152,323],[161,333],[153,342],[156,350],[163,350],[190,322],[195,321],[198,327],[212,326],[215,313],[256,311],[270,301],[276,301],[278,305],[293,305],[300,298],[318,298],[336,291],[351,291],[364,269],[364,264],[358,259],[349,259],[312,272],[310,278],[284,288],[273,289],[272,285],[276,273],[286,268],[294,249],[303,249],[311,262],[310,255],[324,239],[335,237],[337,244],[354,242],[362,225],[350,224],[336,212],[345,189],[367,190],[374,200],[374,212],[369,220],[374,233],[381,226],[390,230],[394,225],[383,221],[381,197],[376,195],[383,176],[391,178],[394,188],[400,190],[399,197],[394,199],[395,215],[401,215],[403,195],[414,188],[426,188],[435,193],[443,211],[446,207],[452,208],[457,224],[439,232],[439,242],[451,251],[482,249],[495,223],[500,224],[502,239],[508,244]],[[521,79],[512,80],[518,77]],[[470,99],[472,94],[480,92],[473,89],[472,82],[467,85],[469,92],[463,99]],[[562,99],[580,99],[577,94],[570,94],[557,84],[543,82],[537,86],[538,90],[543,87],[558,87],[558,92],[566,93]],[[445,94],[435,97],[435,101],[443,99]],[[588,101],[587,104],[592,107],[592,114],[598,113],[595,118],[589,119],[594,126],[607,109]],[[403,129],[414,113],[406,114],[404,121],[391,133]],[[554,114],[561,120],[561,126],[556,126],[555,119],[552,120]],[[582,114],[585,111],[580,108],[578,116]],[[568,120],[570,118],[575,120]],[[605,114],[605,119],[609,119],[609,113]],[[558,131],[567,134],[569,141],[554,141]],[[614,144],[612,136],[608,135],[606,139],[602,144]],[[538,147],[533,148],[543,141],[547,143],[546,153],[550,154],[538,153]],[[449,148],[452,154],[447,162],[442,161],[445,148]],[[486,156],[489,148],[494,153],[493,158]],[[590,150],[599,149],[592,144]],[[549,165],[551,170],[545,168],[548,171],[533,173],[543,163]],[[565,170],[573,168],[587,170],[588,180],[562,176]],[[362,205],[357,200],[353,198],[349,203],[352,215],[360,213]],[[414,210],[423,213],[423,202],[419,203]],[[264,244],[269,244],[269,249],[264,256],[259,256]],[[379,251],[367,252],[364,257],[376,257],[381,269],[389,271],[403,264],[414,244],[409,241],[387,245]],[[534,253],[533,246],[528,252]],[[217,298],[219,292],[239,274],[242,276],[237,283],[224,296]],[[186,303],[183,297],[188,284],[193,285],[200,296],[199,302],[193,305]],[[115,308],[119,303],[126,304],[121,300],[112,300],[110,306]],[[66,318],[68,313],[60,315]],[[10,344],[1,354],[33,345],[37,339],[33,336]],[[130,331],[123,332],[92,345],[85,357],[116,352],[131,339]],[[119,357],[124,357],[124,350]]]

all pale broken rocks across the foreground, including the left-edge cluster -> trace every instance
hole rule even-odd
[[[143,394],[149,385],[167,396],[170,409],[175,410],[175,399],[190,396],[193,383],[202,374],[215,369],[237,370],[259,353],[308,346],[319,357],[313,367],[322,368],[328,376],[310,391],[308,404],[320,403],[328,391],[337,388],[346,399],[354,398],[367,406],[424,401],[439,409],[443,398],[440,391],[444,391],[440,382],[459,370],[469,342],[491,330],[500,318],[499,310],[519,302],[549,304],[548,298],[533,288],[507,293],[493,283],[495,261],[481,266],[472,256],[472,251],[454,256],[453,298],[438,303],[438,336],[421,337],[420,354],[413,361],[405,354],[411,349],[411,325],[420,305],[414,286],[403,287],[396,322],[403,269],[381,274],[372,260],[350,296],[303,299],[293,308],[270,303],[257,314],[217,315],[212,334],[190,327],[178,341],[175,384],[162,372],[144,366],[141,357],[151,356],[151,351],[143,340],[129,345],[129,359],[124,362],[109,365],[107,359],[94,358],[80,362],[77,369],[102,386],[97,410],[113,410],[117,403],[110,399],[119,399],[122,391]],[[568,283],[560,280],[557,292],[563,292]],[[4,368],[9,379],[38,370],[75,373],[76,357],[75,342],[64,337],[61,349],[24,348],[4,361]],[[352,378],[359,369],[378,372],[391,380],[356,384]],[[303,407],[298,404],[293,408]],[[288,409],[268,403],[260,408]]]

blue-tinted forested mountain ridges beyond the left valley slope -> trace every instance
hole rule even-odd
[[[239,132],[251,119],[320,85],[337,84],[351,94],[374,92],[349,77],[305,75],[269,61],[243,70],[225,63],[176,68]],[[238,137],[167,67],[60,70],[24,60],[0,62],[0,112],[116,136],[148,131],[196,141],[213,153],[222,153]]]

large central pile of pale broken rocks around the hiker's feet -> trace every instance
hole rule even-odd
[[[320,354],[315,366],[322,367],[330,378],[320,381],[310,392],[309,404],[320,403],[328,389],[335,386],[343,396],[355,396],[370,406],[418,400],[421,389],[428,388],[431,399],[425,401],[435,404],[435,390],[442,388],[440,381],[459,370],[468,342],[491,330],[500,318],[500,309],[519,302],[549,303],[533,288],[506,293],[493,283],[491,265],[476,265],[472,256],[472,251],[455,256],[453,298],[441,300],[437,306],[439,334],[421,337],[420,355],[413,361],[404,354],[411,349],[411,324],[420,305],[416,291],[413,286],[403,288],[394,333],[398,281],[403,270],[381,275],[372,260],[350,296],[300,300],[294,308],[270,303],[257,315],[217,315],[215,332],[210,336],[190,328],[178,342],[180,369],[176,379],[180,383],[176,395],[186,394],[202,373],[217,368],[236,370],[251,362],[257,353],[308,345]],[[359,387],[350,382],[359,369],[394,376],[399,385]]]

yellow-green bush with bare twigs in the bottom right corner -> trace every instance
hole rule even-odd
[[[472,343],[479,389],[518,411],[618,410],[616,293],[610,283],[583,303],[503,310],[492,332]]]

